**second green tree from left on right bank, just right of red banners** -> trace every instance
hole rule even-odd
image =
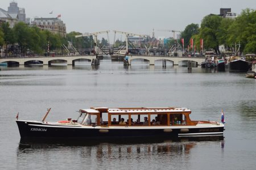
[[[200,37],[204,39],[204,48],[214,49],[216,53],[220,53],[218,49],[217,32],[221,20],[221,16],[207,15],[202,20],[200,28]]]

